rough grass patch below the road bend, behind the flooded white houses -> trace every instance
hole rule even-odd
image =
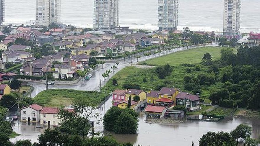
[[[37,104],[48,107],[69,106],[75,98],[86,98],[89,104],[98,106],[104,100],[104,93],[97,91],[78,91],[68,89],[45,90],[34,100]]]

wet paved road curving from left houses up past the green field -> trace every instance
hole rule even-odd
[[[216,43],[209,44],[207,46],[217,46]],[[193,48],[198,48],[202,46],[190,46],[188,49],[193,49]],[[181,47],[180,51],[186,50],[187,47]],[[179,50],[176,48],[175,50],[170,50],[170,53],[178,52]],[[159,55],[158,53],[156,55],[148,56],[148,59],[156,58],[159,56],[167,55],[169,54],[169,50],[166,51],[166,54],[164,52]],[[145,61],[146,56],[143,56],[138,59],[138,62]],[[132,58],[132,65],[137,63],[137,58]],[[109,78],[105,82],[103,82],[103,77],[102,74],[106,71],[111,69],[111,66],[113,66],[115,63],[106,63],[104,68],[102,69],[102,65],[99,65],[99,68],[92,73],[92,78],[89,81],[79,81],[78,83],[71,84],[71,85],[55,85],[55,86],[49,86],[48,89],[75,89],[75,90],[83,90],[83,91],[99,91],[100,87],[100,81],[101,81],[101,86],[104,86],[105,83],[113,76],[115,75],[119,70],[131,66],[131,58],[127,58],[125,61],[121,61],[118,65],[118,69],[115,70],[114,73],[111,73]],[[28,82],[28,85],[33,86],[34,90],[32,93],[29,95],[29,97],[34,98],[37,93],[40,93],[41,91],[46,90],[46,86],[44,83],[35,83],[35,82]]]

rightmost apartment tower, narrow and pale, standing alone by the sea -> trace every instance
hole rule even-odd
[[[240,29],[241,0],[224,0],[223,35],[237,35]]]

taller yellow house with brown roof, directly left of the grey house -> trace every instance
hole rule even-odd
[[[176,96],[179,94],[177,88],[167,88],[163,87],[159,92],[159,99],[168,98],[173,101],[173,104],[176,105]]]

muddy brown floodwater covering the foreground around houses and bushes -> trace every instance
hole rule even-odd
[[[92,115],[99,113],[95,120],[95,131],[103,132],[102,117],[105,112],[112,106],[111,98],[105,102],[99,109],[95,110]],[[199,122],[185,120],[180,122],[178,120],[162,119],[146,120],[146,116],[143,112],[139,116],[139,128],[137,134],[114,134],[105,132],[105,135],[113,135],[113,137],[119,142],[132,142],[135,145],[142,146],[190,146],[194,141],[195,145],[198,145],[198,140],[203,134],[208,131],[218,132],[230,132],[235,129],[239,124],[249,124],[253,131],[252,137],[258,138],[260,136],[260,119],[245,119],[239,117],[232,117],[220,122]],[[30,139],[32,142],[37,142],[39,134],[43,133],[43,129],[36,128],[37,124],[28,125],[28,123],[19,124],[13,126],[15,132],[22,134],[14,139],[12,142],[20,139]]]

